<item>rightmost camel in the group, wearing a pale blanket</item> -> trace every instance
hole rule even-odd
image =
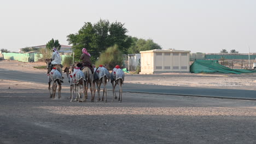
[[[122,69],[120,69],[119,65],[117,65],[111,73],[111,78],[110,81],[112,83],[112,87],[113,87],[113,99],[112,101],[114,101],[114,99],[117,99],[117,94],[115,93],[115,86],[119,86],[119,99],[118,101],[121,103],[122,102],[122,94],[123,94],[123,89],[122,89],[122,85],[124,84],[124,71]]]

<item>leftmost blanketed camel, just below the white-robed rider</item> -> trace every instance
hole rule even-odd
[[[57,89],[57,83],[59,85],[59,99],[61,98],[61,83],[63,83],[62,76],[60,72],[56,69],[53,68],[53,70],[49,71],[48,74],[49,82],[48,82],[48,89],[50,92],[50,98],[55,98],[55,93]],[[52,88],[51,88],[51,82],[53,82]],[[52,90],[52,92],[51,92]]]

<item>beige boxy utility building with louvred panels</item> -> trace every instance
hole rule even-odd
[[[190,51],[149,50],[140,51],[141,72],[156,74],[165,72],[189,72]]]

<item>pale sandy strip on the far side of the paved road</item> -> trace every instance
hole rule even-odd
[[[0,61],[0,68],[38,73],[46,70],[33,68],[46,65],[44,62],[24,63],[18,61]],[[136,76],[126,74],[126,83],[140,83],[163,86],[185,86],[203,88],[247,89],[255,90],[256,73],[252,74],[191,74],[191,73],[164,73],[157,75]],[[129,75],[129,76],[128,76]]]

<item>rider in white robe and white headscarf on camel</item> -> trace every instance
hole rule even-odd
[[[62,76],[61,56],[55,47],[53,49],[53,56],[51,56],[51,65],[49,65],[49,67],[51,67],[51,69],[56,67],[56,69],[60,71]]]

